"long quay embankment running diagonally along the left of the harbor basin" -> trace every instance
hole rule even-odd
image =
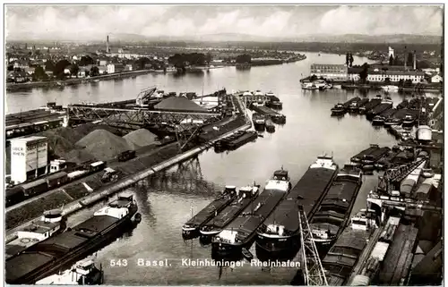
[[[241,104],[238,101],[238,109],[242,109]],[[192,145],[189,150],[180,153],[177,147],[177,143],[169,144],[165,147],[156,148],[151,152],[138,156],[125,163],[119,163],[112,166],[114,169],[119,170],[125,176],[124,178],[111,182],[107,185],[98,185],[93,191],[89,192],[85,189],[86,182],[92,186],[90,182],[94,179],[99,180],[99,174],[93,174],[88,178],[78,182],[76,186],[65,187],[64,189],[56,190],[45,198],[36,198],[31,202],[23,205],[22,207],[15,208],[6,213],[5,227],[7,230],[5,241],[12,241],[14,239],[14,233],[22,228],[25,224],[30,224],[33,220],[37,220],[45,210],[54,209],[58,207],[64,207],[63,213],[65,215],[73,214],[74,212],[82,209],[83,207],[90,206],[99,200],[108,198],[108,196],[116,193],[120,190],[125,190],[127,187],[133,185],[137,181],[165,170],[172,165],[182,163],[188,160],[202,151],[210,148],[213,143],[219,139],[228,137],[237,131],[247,130],[252,126],[250,119],[247,118],[247,114],[243,113],[238,116],[234,116],[229,122],[220,126],[219,131],[208,131],[206,138],[209,141]],[[86,195],[87,193],[87,195]],[[39,202],[39,204],[37,204]]]

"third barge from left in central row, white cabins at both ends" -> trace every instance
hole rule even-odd
[[[246,209],[228,224],[211,241],[211,258],[214,260],[239,261],[247,256],[257,228],[279,205],[280,200],[291,190],[287,171],[275,171],[266,183],[263,192]]]

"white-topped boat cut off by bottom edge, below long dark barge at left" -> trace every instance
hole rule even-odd
[[[82,260],[60,274],[53,274],[36,282],[36,285],[100,285],[104,281],[102,266],[92,260]]]

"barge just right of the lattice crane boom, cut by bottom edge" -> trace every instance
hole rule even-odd
[[[378,227],[375,211],[361,209],[351,217],[350,225],[340,234],[327,255],[322,266],[329,286],[341,286],[349,279],[353,267],[357,264],[367,241]]]

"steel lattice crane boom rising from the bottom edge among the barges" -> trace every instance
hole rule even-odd
[[[313,233],[302,206],[298,207],[298,222],[300,224],[300,266],[305,285],[328,286],[322,262],[314,243]]]

